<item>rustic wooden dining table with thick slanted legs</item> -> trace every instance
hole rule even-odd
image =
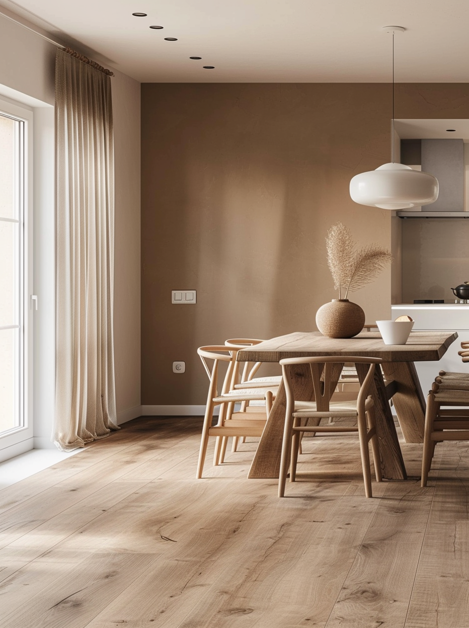
[[[377,331],[364,331],[345,339],[327,338],[320,332],[294,332],[243,349],[238,352],[237,360],[279,362],[288,357],[320,355],[335,355],[338,362],[344,355],[381,358],[382,371],[375,369],[371,394],[375,401],[382,475],[385,479],[406,480],[406,467],[389,399],[392,399],[396,409],[404,440],[407,443],[423,443],[426,403],[414,362],[437,362],[457,337],[456,332],[411,332],[405,345],[385,345]],[[364,380],[367,368],[366,364],[357,364],[360,382]],[[435,376],[437,374],[438,367],[435,365]],[[340,368],[336,376],[337,379],[340,377]],[[293,391],[298,401],[314,401],[309,365],[294,368]],[[286,395],[281,382],[252,460],[249,478],[279,477],[285,410]]]

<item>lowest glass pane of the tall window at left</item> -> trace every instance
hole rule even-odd
[[[0,330],[0,433],[19,425],[18,330]]]

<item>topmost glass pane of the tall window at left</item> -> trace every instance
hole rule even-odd
[[[0,217],[16,218],[16,122],[0,114]]]

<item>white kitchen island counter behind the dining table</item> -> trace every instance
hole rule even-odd
[[[458,351],[461,340],[469,340],[469,305],[462,303],[423,303],[420,305],[392,305],[391,318],[395,320],[403,314],[409,315],[414,321],[414,331],[450,331],[458,332],[458,340],[453,342],[439,362],[416,362],[415,366],[426,396],[438,371],[467,372],[469,362],[461,362]]]

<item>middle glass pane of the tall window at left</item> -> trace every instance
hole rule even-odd
[[[18,325],[16,286],[18,224],[0,220],[0,327]]]

